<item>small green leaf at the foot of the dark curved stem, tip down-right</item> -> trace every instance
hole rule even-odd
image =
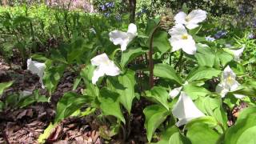
[[[169,110],[169,94],[165,88],[161,86],[154,86],[152,90],[146,91],[146,97],[152,99],[154,102],[158,102],[159,104],[164,106],[166,110]]]

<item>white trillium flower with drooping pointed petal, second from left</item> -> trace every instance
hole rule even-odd
[[[92,78],[93,84],[96,84],[98,78],[105,74],[109,76],[116,76],[120,74],[118,66],[116,66],[105,53],[92,58],[90,62],[93,66],[97,66]]]

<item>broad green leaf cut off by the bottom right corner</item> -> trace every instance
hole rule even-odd
[[[224,143],[255,143],[256,134],[256,114],[249,114],[246,118],[241,118],[234,126],[226,130]]]

